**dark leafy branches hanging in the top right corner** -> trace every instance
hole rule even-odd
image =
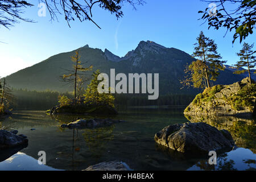
[[[216,0],[206,2],[216,5],[216,7],[213,7],[216,9],[216,12],[209,13],[208,10],[211,7],[204,11],[199,11],[199,13],[203,13],[201,19],[208,22],[208,29],[213,27],[218,30],[221,27],[225,27],[226,33],[235,30],[233,43],[237,38],[240,38],[241,43],[249,34],[253,34],[256,23],[255,0]],[[232,7],[236,6],[236,8],[232,10],[227,9],[226,6],[230,4],[232,4]]]

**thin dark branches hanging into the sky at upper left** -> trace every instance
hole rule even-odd
[[[111,14],[114,14],[117,19],[123,16],[122,7],[125,3],[129,3],[136,9],[135,6],[143,5],[143,0],[88,0],[88,1],[77,1],[77,0],[39,0],[37,3],[44,3],[44,7],[51,16],[51,20],[58,20],[57,15],[63,15],[65,20],[70,27],[69,22],[71,20],[79,19],[80,22],[84,20],[89,20],[98,24],[93,20],[92,10],[95,6],[100,7],[109,11]],[[40,5],[40,4],[39,4]],[[24,0],[8,0],[0,1],[0,26],[9,28],[13,26],[14,23],[19,23],[19,20],[26,22],[34,22],[31,19],[23,18],[21,14],[24,13],[23,9],[32,7],[31,3],[28,3]],[[38,6],[38,5],[36,5]]]

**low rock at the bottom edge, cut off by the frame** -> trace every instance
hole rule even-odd
[[[83,171],[130,171],[131,169],[123,162],[103,162],[93,166],[89,166]]]

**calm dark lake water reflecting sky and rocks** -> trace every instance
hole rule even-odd
[[[209,165],[208,159],[187,158],[159,147],[154,142],[155,133],[168,125],[188,122],[183,110],[183,107],[133,107],[113,117],[126,122],[83,130],[63,129],[60,125],[85,116],[53,118],[44,111],[14,111],[11,117],[0,121],[0,129],[18,130],[28,137],[28,146],[17,151],[0,151],[4,153],[0,154],[0,170],[81,170],[112,160],[122,161],[134,170],[256,169],[254,119],[222,118],[218,126],[232,133],[237,147],[218,156],[215,166]],[[46,152],[46,165],[38,164],[39,151]]]

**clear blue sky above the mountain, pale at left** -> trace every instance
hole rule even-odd
[[[61,52],[69,52],[86,44],[92,48],[108,49],[115,55],[125,56],[135,49],[142,40],[150,40],[165,47],[181,49],[189,54],[193,52],[193,44],[200,31],[218,45],[218,52],[227,64],[235,64],[236,55],[242,44],[237,40],[232,44],[233,33],[226,30],[208,30],[207,24],[199,20],[199,10],[209,5],[200,0],[146,0],[143,6],[125,4],[123,18],[117,20],[114,15],[98,7],[93,8],[93,19],[101,27],[92,22],[79,20],[71,22],[69,28],[64,16],[58,21],[50,21],[51,17],[39,16],[38,1],[30,0],[34,7],[24,9],[24,18],[36,23],[22,22],[14,24],[10,30],[0,27],[0,76],[5,77],[30,67],[48,57]],[[36,2],[36,3],[35,3]],[[254,43],[256,35],[250,35],[246,42]]]

